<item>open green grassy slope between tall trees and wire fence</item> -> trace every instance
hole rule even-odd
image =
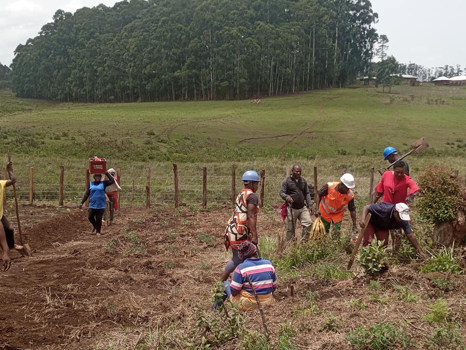
[[[249,101],[50,104],[1,93],[1,143],[24,155],[141,161],[379,154],[425,136],[461,154],[466,88],[345,88]]]

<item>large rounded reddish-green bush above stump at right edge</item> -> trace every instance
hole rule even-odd
[[[428,221],[434,224],[450,221],[465,207],[457,179],[450,178],[445,166],[427,168],[417,183],[423,194],[417,201],[417,208]]]

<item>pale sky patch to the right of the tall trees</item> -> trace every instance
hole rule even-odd
[[[370,0],[379,35],[399,63],[466,67],[466,0]]]

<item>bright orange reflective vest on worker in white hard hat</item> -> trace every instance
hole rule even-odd
[[[348,190],[346,194],[342,194],[335,190],[338,184],[339,182],[327,183],[328,193],[320,199],[320,215],[322,215],[327,222],[331,220],[333,220],[334,223],[340,222],[346,210],[345,206],[354,198],[354,193],[351,190]]]

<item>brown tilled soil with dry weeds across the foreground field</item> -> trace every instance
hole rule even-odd
[[[33,257],[12,251],[11,269],[0,273],[0,349],[170,349],[154,331],[170,325],[181,339],[172,348],[183,348],[186,328],[196,323],[193,310],[209,309],[210,290],[230,257],[222,241],[230,213],[230,207],[122,209],[96,236],[85,210],[22,207]],[[12,210],[7,216],[15,221]],[[260,237],[281,234],[281,225],[275,212],[261,213]],[[394,265],[373,278],[386,289],[379,293],[385,302],[376,302],[368,292],[370,279],[354,265],[346,280],[306,271],[278,276],[277,303],[266,309],[271,341],[288,324],[296,346],[290,349],[351,349],[348,332],[391,322],[413,340],[410,349],[423,349],[437,325],[422,317],[439,297],[447,300],[449,320],[464,332],[463,275],[449,276],[454,287],[440,291],[430,281],[445,274],[420,274],[417,262]],[[399,298],[394,283],[408,286],[416,301]],[[319,297],[313,301],[310,292]],[[246,319],[261,331],[257,311]],[[239,349],[234,339],[212,347]]]

